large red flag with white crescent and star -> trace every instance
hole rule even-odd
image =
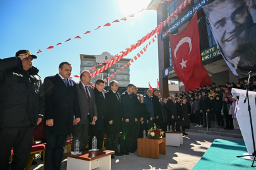
[[[197,13],[184,30],[169,35],[175,74],[185,85],[185,90],[212,84],[201,61]]]

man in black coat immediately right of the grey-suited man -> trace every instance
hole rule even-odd
[[[102,79],[97,79],[95,82],[94,95],[95,104],[97,106],[97,122],[95,125],[90,125],[90,140],[89,146],[92,148],[92,138],[97,137],[97,149],[102,149],[104,133],[106,130],[106,101],[105,94],[102,92],[105,88],[105,82]]]

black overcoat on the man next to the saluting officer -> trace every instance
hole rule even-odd
[[[67,135],[73,133],[73,116],[81,118],[75,81],[68,79],[68,87],[59,74],[44,79],[46,114],[44,116],[44,134]],[[53,119],[49,127],[46,120]]]

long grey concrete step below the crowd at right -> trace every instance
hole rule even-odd
[[[241,134],[236,134],[236,133],[226,133],[226,132],[214,132],[214,131],[209,131],[207,130],[200,130],[200,129],[186,129],[186,133],[189,132],[195,132],[195,133],[203,133],[203,134],[207,134],[207,135],[217,135],[217,136],[222,136],[222,137],[235,137],[238,139],[243,139],[243,136]]]

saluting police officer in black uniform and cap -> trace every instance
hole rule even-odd
[[[19,50],[15,57],[0,59],[0,169],[8,169],[13,148],[11,169],[24,169],[34,127],[44,116],[42,81],[33,67],[28,50]]]

